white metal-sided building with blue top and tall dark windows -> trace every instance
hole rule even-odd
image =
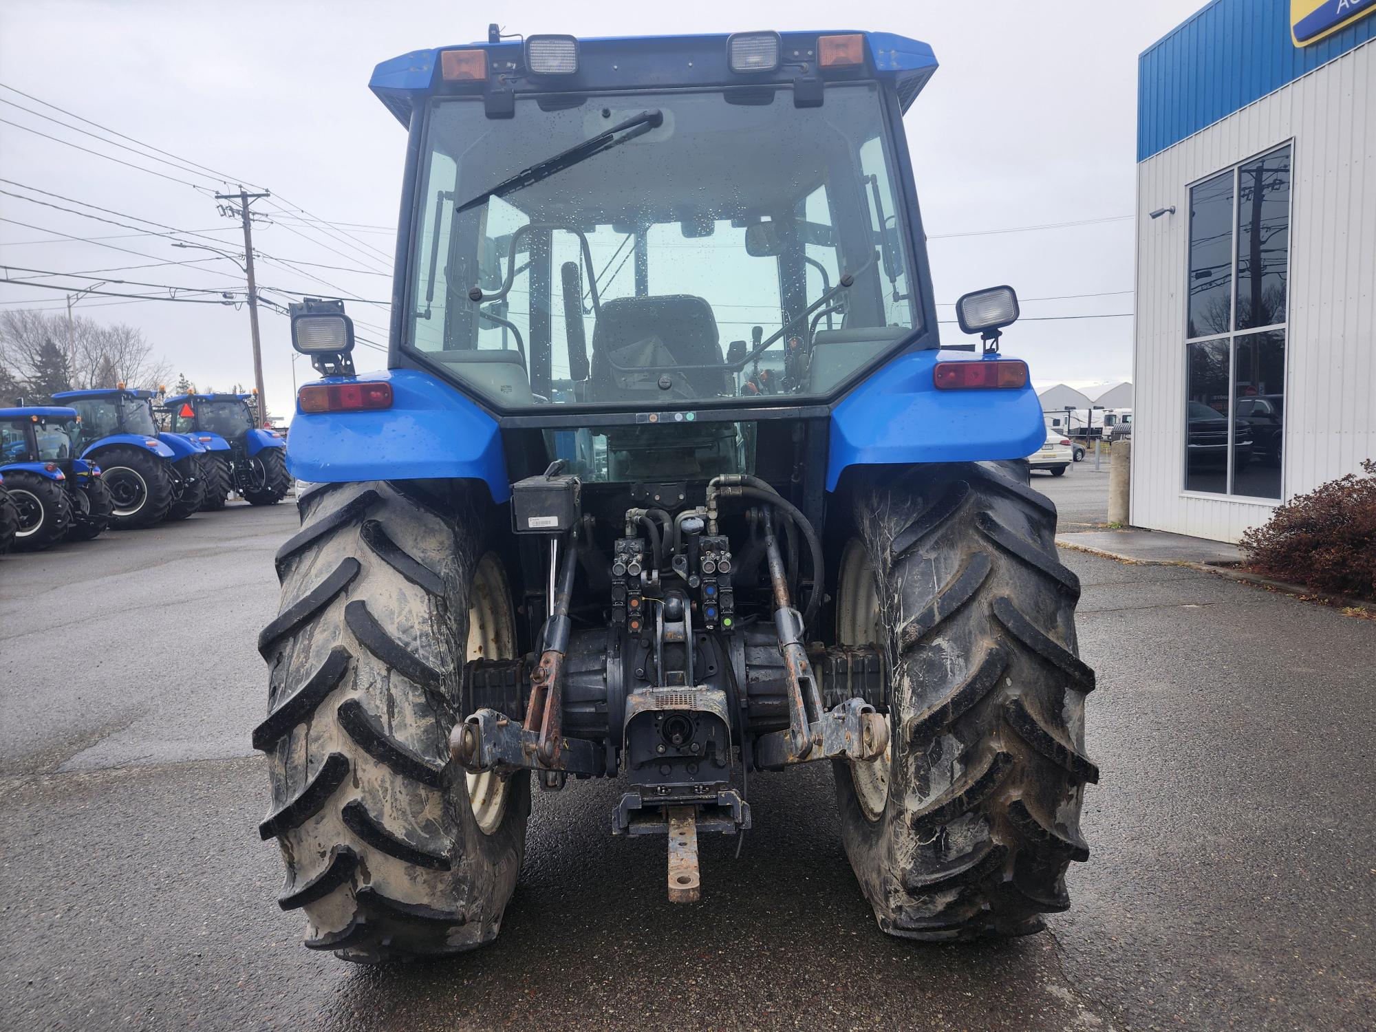
[[[1376,458],[1376,0],[1215,0],[1138,65],[1131,522],[1237,541]]]

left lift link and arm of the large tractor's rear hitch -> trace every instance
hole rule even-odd
[[[604,762],[601,751],[592,742],[567,739],[563,735],[568,604],[574,593],[577,568],[578,553],[567,548],[559,568],[555,603],[541,629],[544,648],[539,663],[530,676],[530,703],[524,724],[517,728],[505,714],[483,709],[450,732],[450,755],[465,771],[471,773],[497,771],[505,775],[530,768],[541,772],[544,776],[541,783],[552,788],[561,787],[563,779],[570,773],[583,776],[601,773]]]

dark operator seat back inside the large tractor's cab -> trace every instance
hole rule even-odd
[[[655,347],[652,338],[662,347]],[[647,373],[644,377],[618,372],[612,369],[612,356],[623,367],[724,365],[717,318],[711,305],[694,294],[616,297],[603,301],[593,326],[590,394],[594,399],[625,398],[640,391],[652,391],[666,399],[684,395],[717,398],[729,394],[731,381],[725,369],[698,369],[681,374],[665,370],[680,388],[665,392],[658,388],[660,372]]]

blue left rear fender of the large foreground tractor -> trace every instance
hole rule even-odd
[[[356,378],[389,383],[392,407],[315,414],[297,407],[286,447],[292,476],[311,483],[472,479],[487,484],[493,501],[510,498],[497,422],[473,402],[414,369]]]

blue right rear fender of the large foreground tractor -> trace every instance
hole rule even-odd
[[[999,358],[1010,358],[999,355]],[[982,362],[969,351],[914,351],[863,381],[831,413],[827,490],[849,466],[1025,458],[1046,440],[1036,391],[938,391],[937,362]]]

